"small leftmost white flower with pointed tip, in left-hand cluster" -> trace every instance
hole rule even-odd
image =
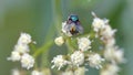
[[[13,51],[13,52],[11,52],[11,56],[8,57],[7,60],[16,62],[16,61],[20,61],[20,58],[21,58],[20,53],[17,51]]]

